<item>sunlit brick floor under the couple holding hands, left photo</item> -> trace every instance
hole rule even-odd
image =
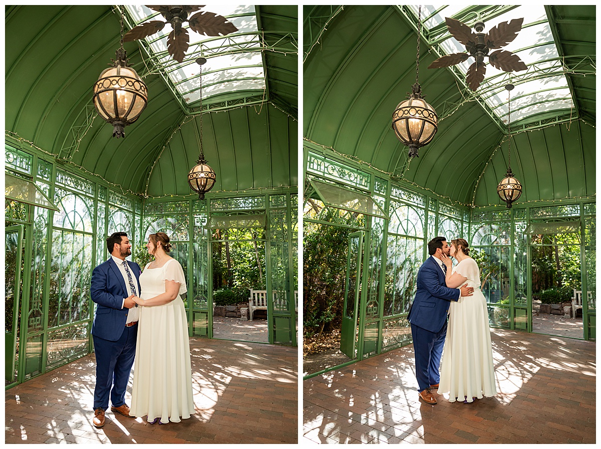
[[[96,429],[92,354],[5,391],[5,443],[297,443],[297,348],[190,339],[190,349],[188,420],[151,425],[109,409]]]

